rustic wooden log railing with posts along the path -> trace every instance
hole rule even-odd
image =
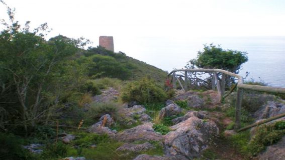
[[[177,77],[175,72],[184,72],[184,75],[179,75],[184,77],[184,86],[182,85],[181,81],[179,80],[179,78]],[[241,103],[242,103],[242,92],[244,89],[248,89],[248,90],[254,90],[254,91],[264,91],[264,92],[270,92],[270,93],[282,93],[285,94],[285,88],[280,88],[280,87],[269,87],[269,86],[260,86],[260,85],[250,85],[250,84],[243,84],[243,77],[229,72],[229,71],[225,71],[222,69],[179,69],[179,70],[173,70],[171,71],[168,76],[170,76],[172,74],[172,84],[173,84],[173,88],[176,88],[176,80],[178,81],[180,87],[182,88],[182,90],[184,90],[184,92],[186,92],[188,90],[188,86],[187,86],[187,81],[188,81],[188,72],[208,72],[208,73],[213,73],[213,80],[215,79],[215,81],[217,82],[217,90],[219,92],[219,94],[221,95],[221,97],[224,96],[225,93],[225,75],[228,76],[233,76],[236,77],[238,79],[237,82],[237,95],[236,95],[236,106],[235,106],[235,130],[238,130],[240,128],[240,117],[241,117]],[[222,73],[222,80],[221,83],[218,79],[217,73]],[[215,81],[212,84],[212,86],[214,87],[215,85]],[[275,117],[278,117],[280,115],[277,115]],[[283,116],[285,116],[283,114]],[[272,118],[274,119],[274,118]]]

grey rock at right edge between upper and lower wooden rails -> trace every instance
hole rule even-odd
[[[268,101],[267,104],[263,105],[258,111],[254,113],[254,116],[257,119],[265,119],[281,113],[285,113],[285,104]]]

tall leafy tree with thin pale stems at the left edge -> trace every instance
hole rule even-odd
[[[35,126],[46,115],[52,103],[59,101],[58,89],[53,85],[73,83],[70,75],[83,74],[70,57],[84,43],[82,39],[63,36],[45,41],[47,24],[34,30],[29,27],[30,22],[21,27],[14,20],[13,10],[7,9],[10,22],[2,21],[5,29],[0,32],[0,109],[17,110],[16,118],[27,130],[27,126]],[[48,101],[51,97],[55,101]]]

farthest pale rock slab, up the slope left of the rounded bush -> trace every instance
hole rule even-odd
[[[114,88],[108,88],[101,90],[102,94],[94,96],[92,99],[95,102],[110,102],[110,101],[116,101],[119,97],[119,92]]]

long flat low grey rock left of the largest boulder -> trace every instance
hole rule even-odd
[[[139,151],[144,151],[148,149],[153,149],[155,148],[152,144],[149,142],[145,142],[143,144],[132,144],[132,143],[125,143],[119,148],[117,148],[117,151],[133,151],[133,152],[139,152]]]

